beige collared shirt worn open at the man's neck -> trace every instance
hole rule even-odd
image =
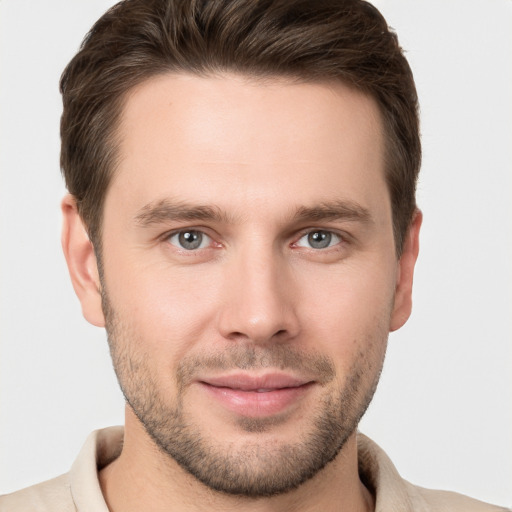
[[[21,491],[0,496],[0,512],[109,512],[98,469],[121,453],[123,428],[89,435],[69,473]],[[498,512],[495,507],[447,491],[416,487],[398,474],[389,457],[373,441],[358,434],[359,473],[375,494],[375,512]]]

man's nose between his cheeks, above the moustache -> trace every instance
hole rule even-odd
[[[260,247],[232,259],[224,274],[221,335],[258,344],[296,337],[300,330],[297,294],[284,257]]]

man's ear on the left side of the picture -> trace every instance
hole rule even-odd
[[[101,285],[94,247],[78,214],[75,198],[70,194],[66,195],[61,207],[62,249],[73,288],[82,304],[82,314],[89,323],[104,327]]]

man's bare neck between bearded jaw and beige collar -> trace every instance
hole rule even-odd
[[[245,498],[213,491],[162,453],[127,410],[121,455],[103,468],[100,485],[112,512],[173,510],[202,512],[241,509],[247,512],[369,512],[373,497],[358,474],[355,433],[324,469],[300,487],[263,498]]]

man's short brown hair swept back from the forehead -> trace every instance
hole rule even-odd
[[[96,250],[126,93],[167,72],[338,79],[378,103],[397,254],[416,208],[418,101],[398,40],[363,0],[124,0],[61,78],[61,167]]]

